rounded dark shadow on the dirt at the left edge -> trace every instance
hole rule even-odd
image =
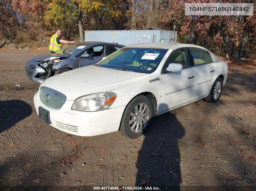
[[[0,133],[30,116],[31,106],[22,100],[0,100]]]

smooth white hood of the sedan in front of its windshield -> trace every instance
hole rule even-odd
[[[151,74],[128,72],[94,65],[77,68],[52,76],[41,85],[61,92],[67,100],[99,92],[111,91],[121,86],[138,83]]]

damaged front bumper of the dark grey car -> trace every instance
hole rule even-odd
[[[44,80],[35,78],[35,76],[38,73],[45,73],[45,70],[43,68],[41,68],[40,66],[38,66],[37,64],[38,64],[38,62],[29,60],[25,66],[25,72],[26,72],[26,76],[30,80],[41,84]]]

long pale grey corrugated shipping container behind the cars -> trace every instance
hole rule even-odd
[[[101,41],[125,46],[139,43],[176,43],[177,33],[170,30],[85,30],[85,42]]]

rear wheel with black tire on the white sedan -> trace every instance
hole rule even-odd
[[[204,98],[204,101],[209,102],[209,103],[216,103],[221,97],[222,93],[222,86],[223,86],[223,80],[218,77],[212,87],[209,95]]]

